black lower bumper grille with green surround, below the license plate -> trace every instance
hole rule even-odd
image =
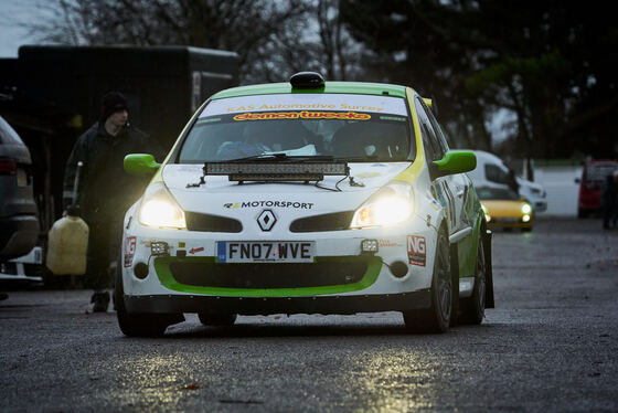
[[[302,288],[359,283],[367,260],[289,264],[170,263],[178,283],[223,288]]]

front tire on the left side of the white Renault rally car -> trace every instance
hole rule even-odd
[[[118,326],[128,337],[161,337],[168,326],[184,321],[182,314],[130,314],[125,307],[125,292],[122,286],[122,272],[120,266],[116,271],[116,287],[114,288],[114,303]]]

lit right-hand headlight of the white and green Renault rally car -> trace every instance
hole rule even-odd
[[[391,182],[354,212],[350,227],[384,226],[407,221],[414,211],[412,187]]]

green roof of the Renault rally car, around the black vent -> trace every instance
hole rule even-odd
[[[251,86],[233,87],[214,94],[211,99],[226,97],[275,95],[291,93],[345,93],[354,95],[379,95],[406,97],[406,86],[392,85],[387,83],[367,82],[326,82],[323,88],[294,88],[289,83],[269,83]]]

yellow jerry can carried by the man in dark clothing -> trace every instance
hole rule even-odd
[[[45,265],[54,275],[86,274],[88,224],[79,216],[66,215],[47,233]]]

